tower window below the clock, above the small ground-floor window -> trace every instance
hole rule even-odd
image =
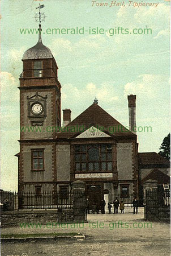
[[[43,171],[44,170],[44,149],[32,150],[32,170]]]

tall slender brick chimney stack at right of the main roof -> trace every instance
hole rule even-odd
[[[129,129],[133,133],[136,133],[136,115],[135,115],[135,109],[136,109],[136,95],[128,95],[127,100],[129,103]],[[134,128],[134,130],[133,130]]]

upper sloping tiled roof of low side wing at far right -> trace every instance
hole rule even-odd
[[[138,153],[139,164],[170,164],[169,160],[156,152]]]

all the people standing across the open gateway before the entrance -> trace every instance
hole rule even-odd
[[[101,213],[104,214],[105,213],[105,205],[106,205],[105,200],[101,200],[100,204],[92,203],[92,213],[98,214],[99,211],[101,211]],[[135,212],[138,213],[138,200],[136,198],[132,201],[132,205],[134,208],[134,214],[135,214]],[[121,210],[121,213],[124,213],[125,206],[124,206],[123,200],[121,200],[121,202],[119,202],[118,198],[116,197],[116,199],[114,199],[114,201],[113,201],[113,207],[114,207],[113,213],[118,213],[118,208]],[[111,209],[112,209],[112,204],[108,203],[109,213],[112,213]],[[89,213],[89,203],[87,204],[87,213]]]

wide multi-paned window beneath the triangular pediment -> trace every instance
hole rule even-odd
[[[76,172],[112,171],[112,144],[75,145]]]

